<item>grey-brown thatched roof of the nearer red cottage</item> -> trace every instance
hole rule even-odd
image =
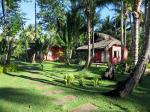
[[[94,43],[95,49],[109,49],[113,45],[121,45],[121,42],[115,38],[113,38],[110,35],[104,34],[104,33],[96,33],[96,35],[99,37],[97,38],[96,42]],[[92,44],[90,45],[92,49]],[[88,45],[83,45],[81,47],[78,47],[77,50],[87,50]]]

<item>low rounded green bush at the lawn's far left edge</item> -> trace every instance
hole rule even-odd
[[[9,64],[4,67],[4,73],[17,72],[17,71],[18,71],[18,66],[16,64]]]

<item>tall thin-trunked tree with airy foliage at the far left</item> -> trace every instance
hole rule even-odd
[[[17,19],[14,19],[15,16],[18,16],[18,13],[17,13],[17,9],[19,8],[18,1],[19,0],[16,0],[16,1],[1,0],[1,6],[2,6],[2,12],[3,12],[3,33],[4,33],[4,37],[6,41],[8,41],[7,43],[9,46],[7,53],[5,54],[5,64],[10,63],[10,58],[11,58],[12,49],[13,49],[12,44],[14,44],[13,43],[14,36],[18,32],[18,29],[20,27],[19,25],[20,18],[16,17]],[[18,24],[16,24],[15,22],[17,22]],[[15,29],[12,28],[13,26],[16,26]],[[10,38],[7,39],[6,36],[13,37],[13,39],[10,39]]]

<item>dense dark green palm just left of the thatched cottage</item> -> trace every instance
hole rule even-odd
[[[70,64],[73,49],[78,45],[82,35],[81,29],[84,27],[83,16],[72,3],[71,11],[67,12],[66,20],[58,20],[58,43],[65,50],[65,62]]]

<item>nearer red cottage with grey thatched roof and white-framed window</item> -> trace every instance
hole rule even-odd
[[[94,48],[94,59],[95,63],[112,63],[117,64],[121,61],[121,42],[110,35],[104,33],[97,33],[94,35],[94,44],[90,45],[91,51]],[[123,59],[127,60],[128,51],[124,47]],[[78,53],[87,53],[88,46],[83,45],[77,48]]]

